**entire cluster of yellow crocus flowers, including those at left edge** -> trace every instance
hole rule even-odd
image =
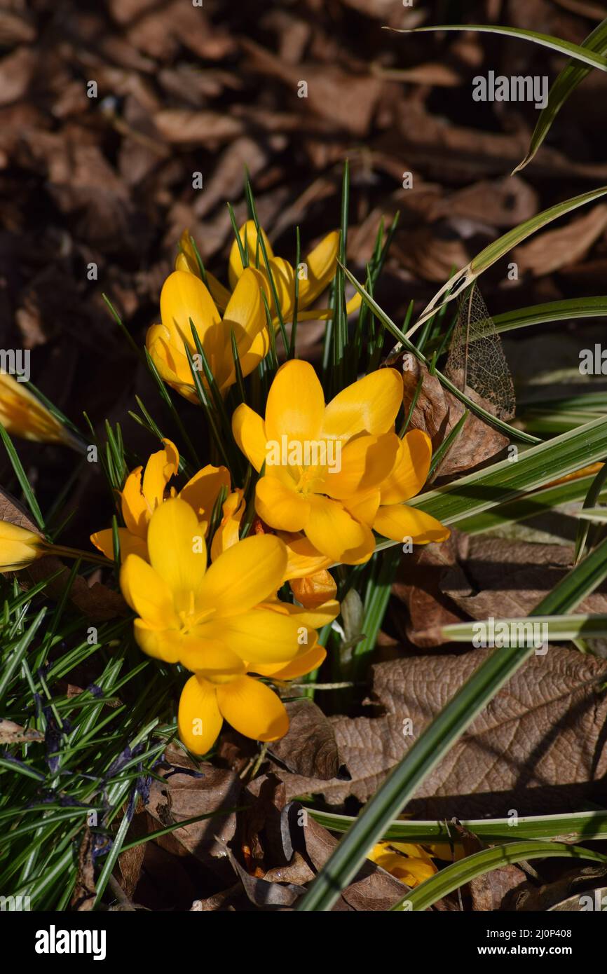
[[[140,649],[192,674],[177,723],[196,754],[209,751],[224,719],[256,740],[285,734],[285,706],[272,686],[280,691],[322,665],[318,630],[340,612],[333,568],[344,581],[341,566],[369,561],[377,536],[417,544],[448,537],[435,518],[406,505],[426,483],[432,445],[423,431],[398,435],[398,371],[355,372],[325,402],[315,369],[292,357],[292,347],[279,367],[278,330],[285,337],[295,319],[333,317],[332,308],[312,306],[335,278],[338,246],[339,234],[330,233],[293,267],[249,220],[224,286],[186,232],[162,288],[161,323],[147,332],[153,369],[189,401],[200,399],[209,421],[216,410],[211,456],[232,460],[186,480],[180,470],[188,465],[163,439],[144,465],[115,477],[123,525],[91,540],[101,553],[94,558],[109,567],[118,546]],[[342,302],[346,318],[359,305],[358,296]],[[247,376],[258,411],[246,401]],[[0,378],[0,419],[10,432],[73,445],[40,400]],[[0,524],[2,570],[49,551],[82,555]],[[385,854],[397,866],[403,858],[394,847]]]

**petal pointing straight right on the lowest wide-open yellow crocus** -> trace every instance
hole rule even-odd
[[[267,537],[267,536],[266,536]],[[242,542],[241,542],[242,543]],[[214,563],[215,565],[217,562]],[[197,627],[205,639],[223,642],[240,656],[252,662],[287,662],[300,650],[299,639],[307,626],[290,614],[269,609],[251,609],[236,616],[211,618]],[[308,633],[308,642],[315,637]]]

